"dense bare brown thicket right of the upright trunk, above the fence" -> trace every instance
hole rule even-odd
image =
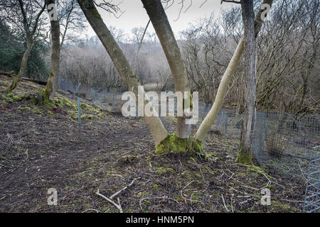
[[[257,106],[319,113],[320,3],[281,0],[257,38]]]

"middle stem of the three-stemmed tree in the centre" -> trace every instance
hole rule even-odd
[[[178,48],[178,43],[176,38],[174,38],[174,33],[172,32],[170,23],[164,11],[164,7],[161,4],[160,0],[150,1],[142,0],[144,4],[144,9],[148,13],[156,35],[158,35],[161,46],[166,55],[166,59],[169,62],[169,67],[171,74],[174,77],[174,86],[176,92],[188,92],[190,93],[190,87],[188,85],[188,77],[186,68],[183,64],[181,57],[181,52]],[[190,95],[188,98],[183,101],[183,106],[188,108],[190,105],[191,99]],[[189,138],[191,135],[191,125],[186,123],[187,116],[178,116],[176,123],[176,136],[178,138]]]

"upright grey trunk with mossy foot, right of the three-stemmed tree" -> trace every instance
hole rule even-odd
[[[253,0],[242,1],[242,21],[244,27],[244,52],[245,52],[245,74],[244,87],[244,113],[242,120],[242,131],[240,148],[237,161],[252,165],[252,140],[255,126],[255,13],[253,11]]]

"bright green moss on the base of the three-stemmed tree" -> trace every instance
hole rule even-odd
[[[174,152],[174,153],[199,153],[202,152],[202,143],[194,138],[178,138],[175,133],[168,135],[164,140],[162,140],[159,145],[156,146],[156,155],[161,155],[164,153]]]

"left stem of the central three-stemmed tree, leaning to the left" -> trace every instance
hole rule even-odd
[[[129,91],[134,92],[136,97],[138,97],[138,88],[142,89],[142,94],[144,94],[144,90],[141,87],[137,77],[132,72],[132,69],[127,61],[124,53],[117,45],[117,42],[114,40],[112,34],[110,33],[105,23],[103,23],[100,13],[95,8],[95,5],[92,3],[92,0],[78,0],[80,7],[87,18],[87,21],[92,26],[92,29],[95,31],[97,36],[100,38],[101,43],[105,46],[105,49],[109,53],[112,61],[114,62],[117,71],[119,72],[124,84],[126,84]],[[138,99],[136,99],[138,102]],[[148,103],[146,99],[144,99],[144,106]],[[137,105],[139,106],[139,105]],[[139,108],[139,107],[138,107]],[[144,111],[143,109],[139,109],[139,111]],[[161,140],[167,137],[168,132],[164,125],[162,124],[160,118],[158,116],[148,117],[144,114],[144,120],[149,127],[151,135],[154,138],[154,142],[158,145]]]

